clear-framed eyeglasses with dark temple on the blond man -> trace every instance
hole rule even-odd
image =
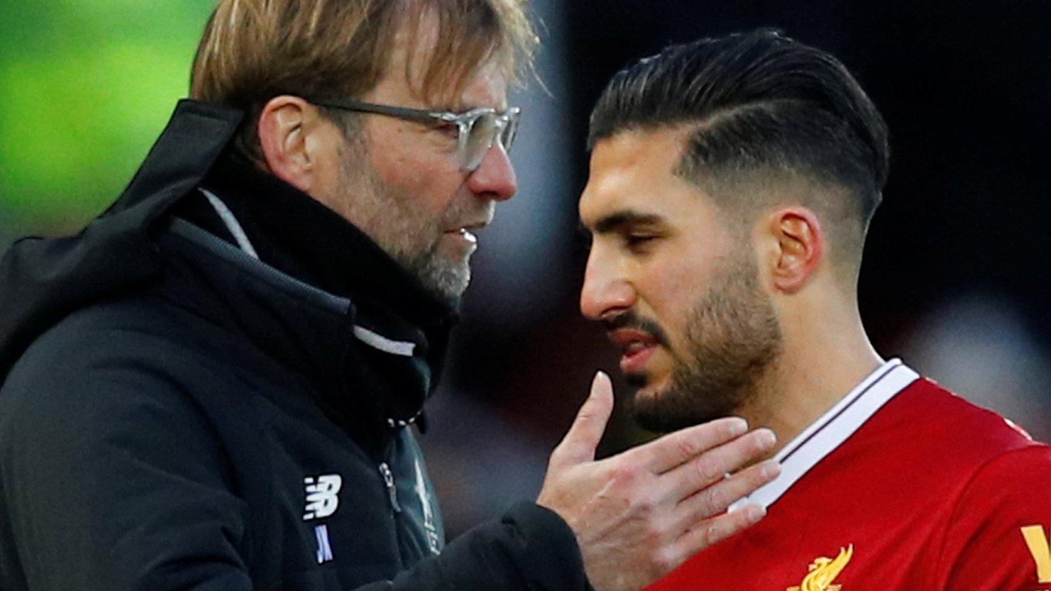
[[[493,147],[493,142],[500,142],[504,151],[511,150],[511,144],[514,143],[515,135],[518,133],[518,118],[521,115],[521,109],[516,106],[503,111],[480,107],[465,113],[452,113],[367,103],[349,99],[338,101],[307,100],[318,106],[341,110],[372,113],[437,125],[455,124],[458,131],[456,147],[459,155],[459,167],[465,172],[473,172],[481,165],[489,149]]]

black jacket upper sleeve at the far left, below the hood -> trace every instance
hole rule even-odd
[[[0,390],[0,510],[25,587],[251,589],[218,442],[156,369],[30,349]]]

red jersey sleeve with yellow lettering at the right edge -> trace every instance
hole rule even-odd
[[[939,576],[947,591],[1032,591],[1051,585],[1051,448],[986,464],[960,496]]]

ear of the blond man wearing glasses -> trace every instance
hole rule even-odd
[[[260,146],[267,168],[304,192],[314,184],[316,162],[309,135],[317,119],[310,103],[288,95],[270,99],[260,114]]]

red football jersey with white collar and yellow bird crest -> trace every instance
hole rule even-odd
[[[766,517],[651,591],[1051,590],[1051,448],[898,360],[776,458]]]

